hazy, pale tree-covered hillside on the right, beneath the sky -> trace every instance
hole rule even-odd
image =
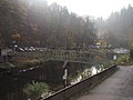
[[[131,47],[133,41],[133,7],[129,4],[119,12],[113,12],[105,21],[98,19],[98,28],[112,47]]]

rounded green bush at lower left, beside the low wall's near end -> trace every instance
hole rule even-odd
[[[30,98],[31,100],[37,100],[42,93],[43,96],[48,96],[50,88],[44,82],[34,82],[25,84],[23,88],[23,92]]]

